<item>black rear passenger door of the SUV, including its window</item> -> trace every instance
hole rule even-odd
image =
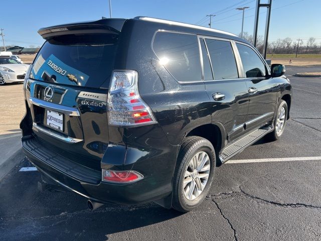
[[[246,81],[240,79],[232,41],[201,37],[206,91],[211,100],[212,122],[223,124],[228,141],[244,133],[249,96]]]

